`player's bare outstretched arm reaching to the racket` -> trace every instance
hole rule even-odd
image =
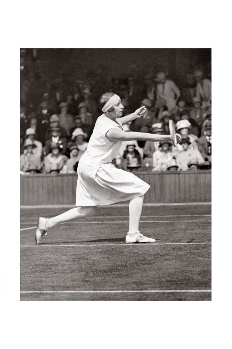
[[[106,138],[111,141],[152,141],[152,142],[162,142],[162,141],[172,141],[170,135],[161,135],[145,132],[130,132],[122,131],[119,128],[111,128],[106,133]],[[179,142],[181,138],[177,142]]]

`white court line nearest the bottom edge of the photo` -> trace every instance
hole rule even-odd
[[[115,291],[20,291],[20,293],[172,293],[172,292],[211,292],[211,290],[115,290]]]

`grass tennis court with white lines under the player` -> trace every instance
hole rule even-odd
[[[211,205],[144,205],[126,244],[128,206],[49,230],[35,246],[38,217],[68,208],[21,208],[21,300],[211,300]]]

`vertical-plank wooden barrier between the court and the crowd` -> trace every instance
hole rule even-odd
[[[186,172],[137,172],[151,185],[145,203],[211,201],[211,170]],[[75,205],[77,174],[20,176],[21,205]]]

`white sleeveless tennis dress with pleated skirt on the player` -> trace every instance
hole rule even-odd
[[[117,122],[105,114],[96,121],[87,150],[78,164],[76,206],[112,205],[137,198],[150,188],[133,173],[117,169],[111,163],[118,154],[121,141],[107,140],[106,133],[114,127],[122,128],[118,119]]]

